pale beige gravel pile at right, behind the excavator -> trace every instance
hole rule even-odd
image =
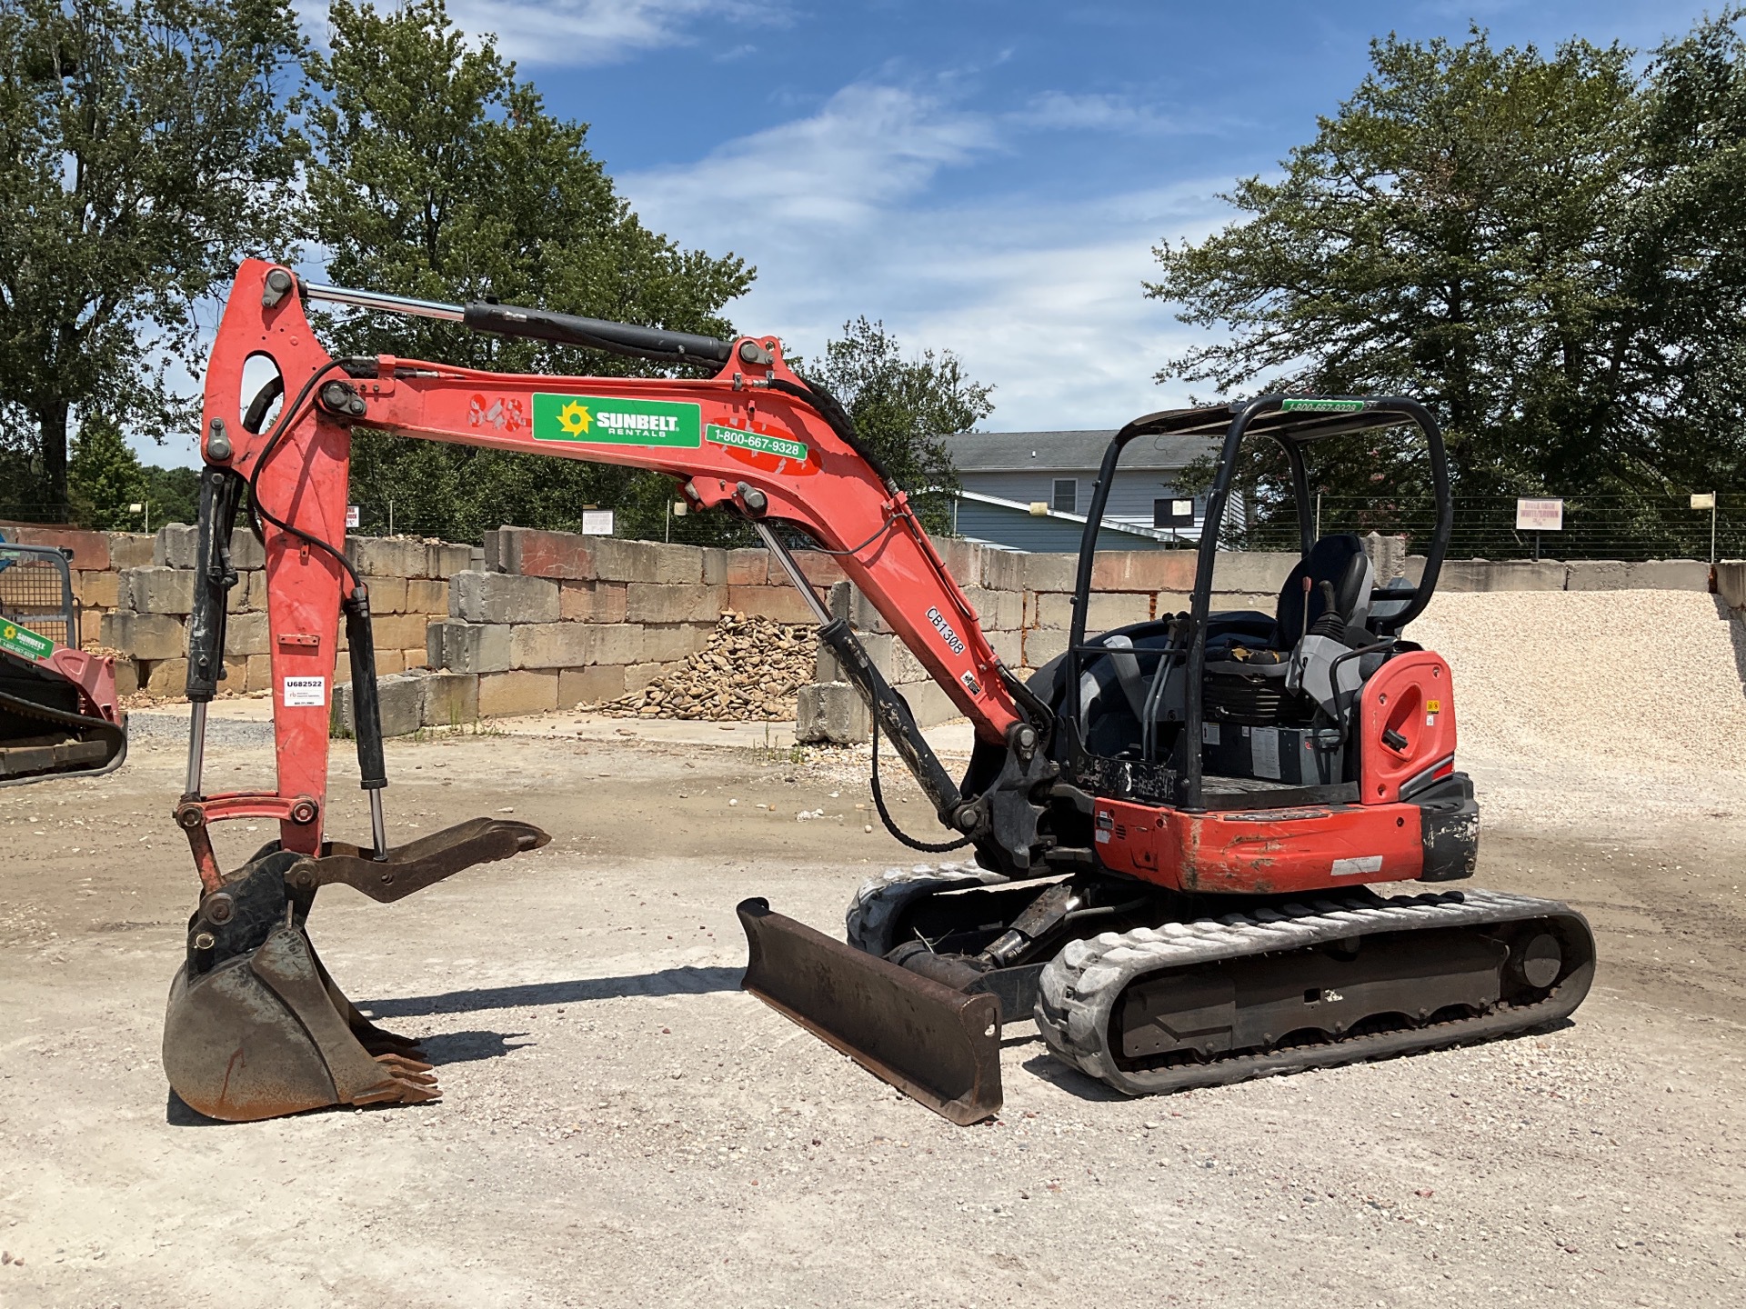
[[[1439,593],[1461,749],[1519,766],[1746,771],[1746,630],[1697,592]]]

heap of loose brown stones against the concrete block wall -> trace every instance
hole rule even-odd
[[[761,723],[794,717],[794,696],[814,679],[815,630],[725,613],[709,642],[672,672],[616,700],[576,705],[615,717]]]

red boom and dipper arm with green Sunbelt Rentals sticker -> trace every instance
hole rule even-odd
[[[320,848],[339,613],[354,585],[342,557],[353,428],[648,468],[674,476],[697,510],[801,527],[838,555],[980,738],[1006,744],[1027,721],[976,609],[906,496],[859,449],[840,410],[831,414],[835,401],[787,368],[773,337],[728,344],[625,328],[641,333],[634,349],[650,358],[726,358],[719,374],[700,380],[508,375],[393,356],[333,360],[309,326],[306,290],[281,265],[243,264],[206,377],[208,469],[246,480],[264,520],[279,778],[274,796],[208,803],[211,817],[276,817],[286,850]],[[314,290],[482,330],[620,347],[597,335],[618,325],[594,319],[536,314],[529,323],[524,311],[496,305],[463,311]],[[283,380],[285,407],[271,424],[258,414],[244,421],[251,401],[244,367],[257,356]],[[810,586],[807,595],[824,616]],[[190,766],[189,796],[197,792]],[[192,815],[185,826],[192,831]]]

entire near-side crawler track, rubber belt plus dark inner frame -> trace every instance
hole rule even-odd
[[[1362,892],[1069,942],[1035,1019],[1058,1059],[1142,1096],[1540,1028],[1592,977],[1557,901]]]

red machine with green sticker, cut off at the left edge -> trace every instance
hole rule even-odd
[[[0,541],[0,785],[119,768],[112,660],[79,649],[66,557]]]

